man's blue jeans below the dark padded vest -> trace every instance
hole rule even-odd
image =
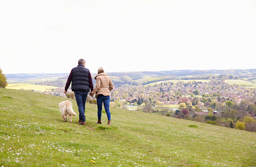
[[[84,91],[75,91],[75,100],[79,111],[79,120],[85,122],[85,102],[87,99],[88,92]]]

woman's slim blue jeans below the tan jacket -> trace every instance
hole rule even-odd
[[[105,111],[107,113],[108,120],[111,120],[111,114],[109,111],[110,97],[104,95],[98,95],[97,106],[98,106],[98,120],[101,120],[102,103],[104,104]]]

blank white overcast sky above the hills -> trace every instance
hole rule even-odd
[[[256,0],[0,0],[0,69],[256,68]]]

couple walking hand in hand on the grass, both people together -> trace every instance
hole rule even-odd
[[[85,102],[88,92],[91,89],[90,96],[97,98],[98,106],[98,121],[97,124],[101,124],[101,111],[102,103],[104,104],[105,111],[107,113],[108,125],[111,124],[111,115],[109,111],[110,91],[114,88],[110,77],[104,72],[104,69],[100,67],[98,69],[98,75],[94,77],[96,79],[96,86],[93,89],[91,73],[89,69],[85,68],[85,60],[79,59],[78,66],[74,67],[67,79],[64,93],[67,93],[67,89],[71,84],[71,89],[75,93],[75,99],[79,111],[79,125],[85,125]]]

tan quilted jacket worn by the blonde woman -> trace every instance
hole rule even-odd
[[[93,89],[91,94],[110,96],[110,91],[114,89],[114,85],[109,76],[106,73],[100,73],[94,77],[96,79],[96,87]]]

